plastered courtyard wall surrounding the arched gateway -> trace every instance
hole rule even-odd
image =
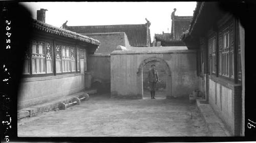
[[[111,97],[141,99],[141,69],[152,60],[168,66],[166,96],[188,96],[198,89],[195,50],[116,50],[111,53]]]

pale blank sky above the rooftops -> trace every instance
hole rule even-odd
[[[193,16],[196,2],[22,2],[36,19],[36,11],[47,9],[46,23],[68,26],[145,24],[151,22],[151,41],[154,35],[170,33],[170,15]]]

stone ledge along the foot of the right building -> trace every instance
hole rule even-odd
[[[230,133],[225,128],[224,123],[215,114],[214,109],[210,104],[206,103],[203,99],[197,99],[198,109],[201,111],[202,117],[208,130],[212,136],[230,136]]]

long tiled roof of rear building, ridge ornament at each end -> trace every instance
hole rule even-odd
[[[148,46],[147,38],[151,43],[150,31],[147,35],[146,24],[67,26],[67,28],[80,34],[125,32],[131,46]]]

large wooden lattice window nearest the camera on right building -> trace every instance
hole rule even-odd
[[[241,81],[241,49],[237,19],[228,20],[217,31],[219,38],[218,75],[238,83]]]

